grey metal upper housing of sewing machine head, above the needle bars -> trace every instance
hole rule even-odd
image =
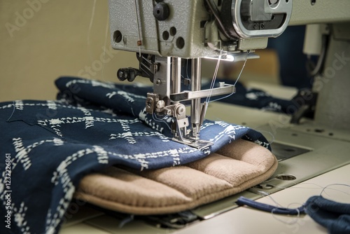
[[[292,0],[270,2],[109,0],[111,45],[116,50],[138,53],[141,49],[141,53],[181,58],[215,57],[220,50],[239,53],[239,41],[251,38],[256,41],[246,50],[265,48],[267,37],[286,29],[293,6]],[[161,6],[169,10],[160,20],[154,11],[160,12]],[[139,26],[130,23],[137,19]]]

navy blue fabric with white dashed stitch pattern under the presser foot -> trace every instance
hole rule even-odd
[[[111,165],[182,165],[239,138],[269,148],[259,132],[219,121],[202,126],[214,143],[206,149],[173,142],[172,119],[145,112],[148,88],[72,77],[56,85],[56,101],[0,103],[0,216],[10,210],[0,233],[57,233],[80,179]]]

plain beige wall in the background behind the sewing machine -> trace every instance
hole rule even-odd
[[[55,99],[59,76],[118,82],[118,68],[139,65],[134,53],[110,44],[108,0],[0,0],[0,102]],[[262,58],[246,63],[240,81],[256,74],[276,81],[276,62],[266,64],[271,53],[258,53]],[[204,61],[202,74],[211,77],[215,65]],[[232,78],[241,65],[234,66]]]

